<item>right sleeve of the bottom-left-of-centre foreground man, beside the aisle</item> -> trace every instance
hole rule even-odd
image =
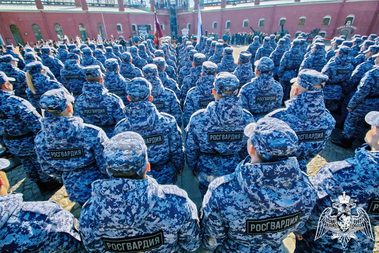
[[[200,246],[201,240],[198,211],[189,198],[186,201],[186,208],[186,219],[178,232],[178,243],[188,251],[195,251]]]

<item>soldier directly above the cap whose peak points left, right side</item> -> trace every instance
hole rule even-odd
[[[309,57],[305,58],[301,63],[299,71],[302,69],[314,69],[321,72],[322,68],[327,63],[325,59],[325,44],[315,43],[310,52]]]

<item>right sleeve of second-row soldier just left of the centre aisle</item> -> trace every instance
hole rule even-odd
[[[168,141],[171,161],[174,163],[176,170],[181,171],[184,168],[184,148],[181,139],[180,128],[173,118],[170,122],[170,132]]]

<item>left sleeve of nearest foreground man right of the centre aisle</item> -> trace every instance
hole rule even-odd
[[[227,228],[217,208],[215,192],[208,188],[203,200],[204,219],[202,222],[202,245],[209,251],[214,251],[227,237]]]

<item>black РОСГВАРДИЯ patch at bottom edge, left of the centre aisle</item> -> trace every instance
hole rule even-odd
[[[107,251],[123,252],[145,252],[164,244],[163,231],[154,234],[139,235],[124,238],[102,238]]]

